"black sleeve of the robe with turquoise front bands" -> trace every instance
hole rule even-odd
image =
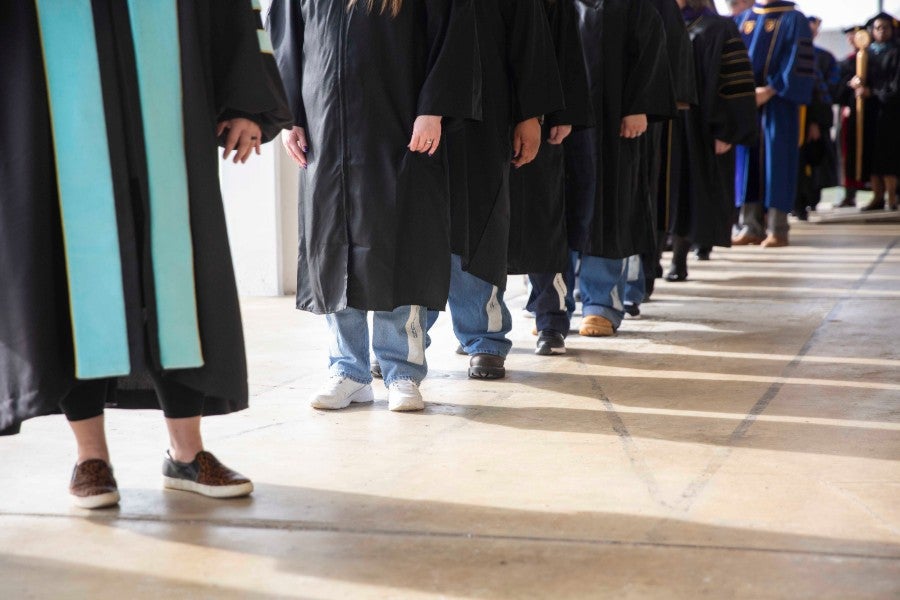
[[[217,119],[252,119],[271,140],[291,117],[258,11],[246,0],[215,0],[209,31]]]

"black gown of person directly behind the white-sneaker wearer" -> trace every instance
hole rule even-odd
[[[462,257],[464,270],[501,289],[507,276],[513,128],[564,106],[541,2],[477,0],[483,120],[447,136],[453,253]]]

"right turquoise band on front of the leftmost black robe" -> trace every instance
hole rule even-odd
[[[160,361],[165,369],[200,367],[178,2],[128,0],[128,7],[147,150]]]

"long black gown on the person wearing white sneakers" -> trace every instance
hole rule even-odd
[[[359,2],[275,0],[266,26],[294,122],[300,173],[297,308],[442,310],[450,286],[446,117],[480,117],[472,0],[407,0],[396,17]],[[444,119],[434,156],[407,144]]]

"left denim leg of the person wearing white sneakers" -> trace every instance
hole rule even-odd
[[[369,372],[369,322],[364,310],[345,308],[325,315],[331,339],[328,344],[329,371],[359,383],[371,383]]]

